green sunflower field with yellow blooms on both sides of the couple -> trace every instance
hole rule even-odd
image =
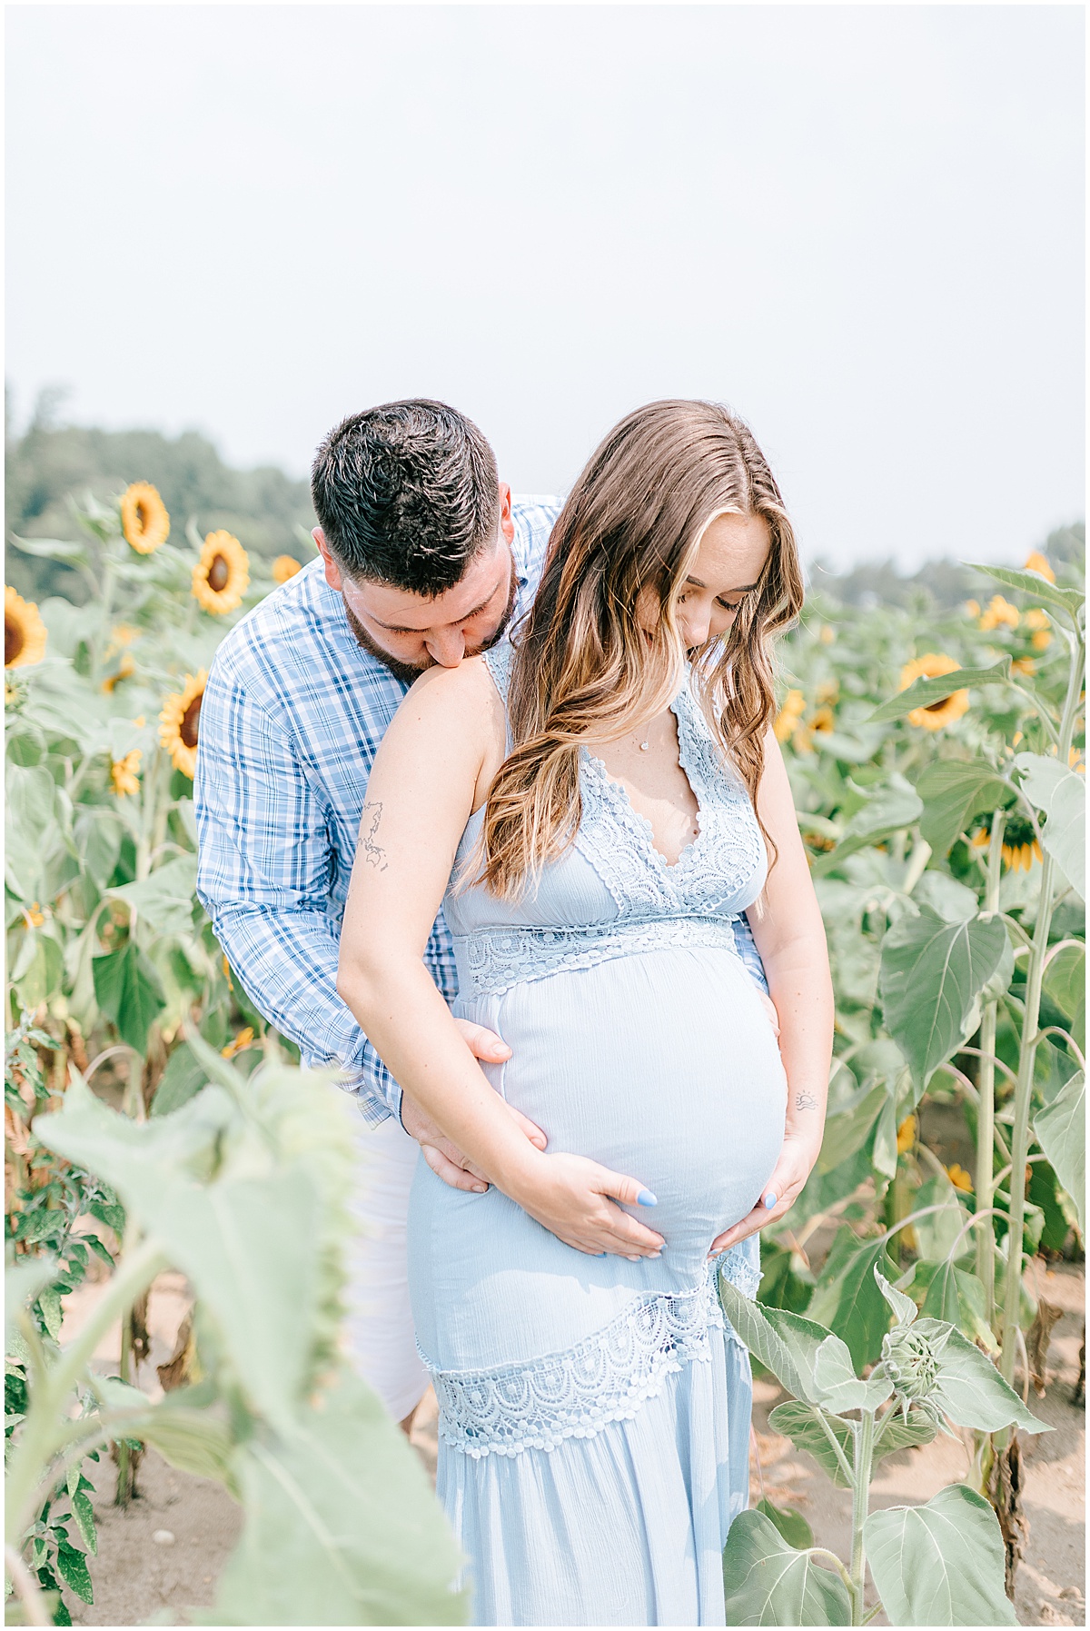
[[[5,590],[8,1623],[93,1602],[90,1492],[129,1501],[147,1447],[244,1514],[194,1623],[463,1623],[427,1478],[341,1357],[349,1122],[196,899],[209,665],[300,561],[192,524],[176,541],[147,483],[73,514],[72,541],[16,543],[80,572],[86,603]],[[1015,1623],[1020,1440],[1043,1425],[1023,1271],[1083,1238],[1085,621],[1070,564],[974,572],[976,600],[927,617],[816,594],[780,648],[836,1057],[759,1302],[723,1302],[789,1395],[776,1430],[850,1489],[852,1541],[841,1558],[763,1501],[727,1545],[728,1623],[860,1624],[875,1603]],[[937,1109],[956,1161],[929,1143]],[[152,1388],[168,1267],[194,1308]],[[966,1479],[870,1510],[880,1460],[948,1424]]]

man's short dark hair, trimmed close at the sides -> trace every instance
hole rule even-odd
[[[329,432],[311,496],[349,577],[442,595],[495,535],[495,455],[446,403],[381,403]]]

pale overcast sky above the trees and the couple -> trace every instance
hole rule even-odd
[[[8,354],[301,473],[442,396],[516,491],[655,396],[808,558],[1083,514],[1080,7],[8,7]]]

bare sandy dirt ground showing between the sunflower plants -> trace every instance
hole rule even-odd
[[[1026,1556],[1018,1572],[1015,1608],[1022,1624],[1085,1624],[1085,1409],[1074,1406],[1079,1342],[1083,1319],[1083,1272],[1070,1264],[1031,1271],[1036,1290],[1064,1315],[1053,1331],[1049,1383],[1043,1399],[1030,1404],[1056,1430],[1023,1439],[1026,1471],[1025,1510],[1030,1520]],[[94,1287],[72,1298],[70,1329],[86,1318]],[[150,1306],[152,1355],[142,1367],[140,1385],[158,1391],[155,1365],[174,1346],[178,1324],[189,1305],[186,1282],[161,1275]],[[98,1364],[114,1370],[119,1333],[108,1336]],[[751,1501],[761,1491],[776,1505],[797,1507],[810,1522],[818,1545],[847,1556],[850,1502],[790,1440],[769,1432],[769,1411],[782,1399],[772,1381],[754,1385],[754,1434]],[[435,1468],[435,1399],[429,1393],[414,1422],[414,1443],[429,1468]],[[917,1450],[881,1461],[872,1486],[872,1504],[890,1507],[929,1501],[943,1484],[965,1478],[968,1435],[938,1437]],[[169,1468],[148,1453],[138,1471],[138,1497],[127,1507],[112,1504],[111,1463],[93,1473],[99,1522],[99,1549],[91,1564],[94,1605],[70,1600],[72,1620],[85,1626],[187,1624],[186,1610],[209,1607],[215,1580],[240,1533],[240,1509],[218,1486]],[[68,1593],[70,1595],[70,1593]],[[875,1624],[886,1624],[877,1618]]]

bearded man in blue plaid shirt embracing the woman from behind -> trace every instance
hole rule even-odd
[[[238,623],[217,651],[200,709],[194,799],[197,892],[254,1006],[336,1063],[363,1119],[350,1337],[394,1419],[427,1388],[409,1310],[406,1220],[419,1148],[459,1189],[484,1179],[393,1081],[336,990],[337,941],[367,778],[417,674],[494,646],[538,587],[554,499],[512,499],[481,431],[435,401],[354,414],[318,450],[319,559]],[[740,951],[756,969],[748,933]],[[425,951],[456,995],[442,917]],[[508,1049],[461,1023],[477,1059]],[[512,1109],[526,1137],[544,1134]],[[650,1240],[621,1213],[631,1238]]]

